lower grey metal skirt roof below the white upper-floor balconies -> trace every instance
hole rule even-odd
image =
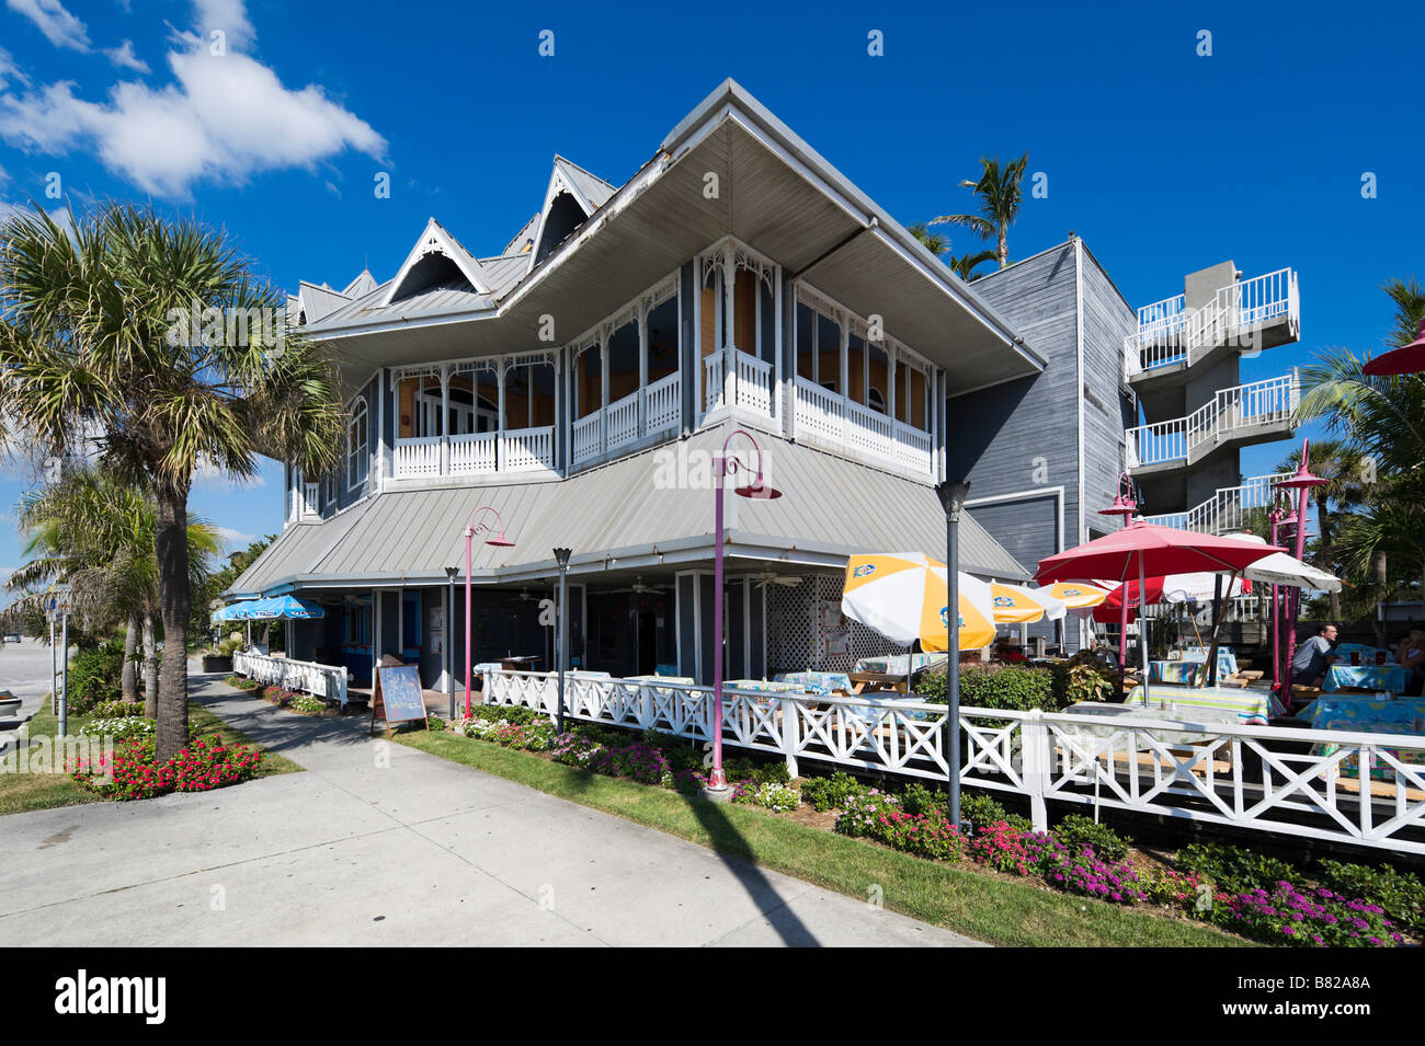
[[[714,511],[711,480],[703,477],[727,433],[715,426],[561,481],[386,491],[325,524],[289,527],[231,592],[443,582],[446,566],[463,568],[463,528],[483,505],[500,514],[516,542],[476,542],[472,566],[483,582],[544,576],[556,546],[574,549],[574,574],[705,564]],[[730,555],[789,566],[836,566],[871,549],[943,558],[945,514],[931,487],[775,435],[761,443],[767,481],[784,497],[727,495]],[[289,538],[294,531],[302,534]],[[1029,576],[969,515],[960,558],[970,574]]]

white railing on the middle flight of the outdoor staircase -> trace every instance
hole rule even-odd
[[[1191,461],[1204,443],[1216,444],[1244,428],[1290,423],[1300,401],[1301,381],[1295,369],[1281,377],[1221,389],[1186,418],[1130,428],[1126,433],[1129,468]]]

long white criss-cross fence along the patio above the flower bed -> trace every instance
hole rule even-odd
[[[484,700],[554,714],[556,673],[490,672]],[[569,676],[570,719],[708,740],[711,687]],[[724,690],[722,741],[940,780],[943,704]],[[960,780],[1047,801],[1425,854],[1425,737],[960,709]],[[1354,774],[1364,767],[1367,781]]]

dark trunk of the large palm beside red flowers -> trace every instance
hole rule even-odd
[[[158,605],[165,657],[158,667],[160,763],[188,744],[188,484],[160,482],[154,554],[158,558]]]

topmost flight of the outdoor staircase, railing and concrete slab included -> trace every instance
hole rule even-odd
[[[1156,391],[1187,381],[1194,366],[1300,336],[1297,273],[1278,269],[1233,282],[1198,309],[1187,307],[1186,295],[1139,309],[1139,330],[1123,342],[1123,376],[1140,393]]]

